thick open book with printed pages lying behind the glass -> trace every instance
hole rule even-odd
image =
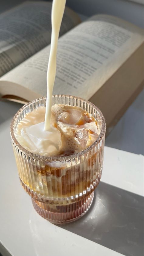
[[[50,13],[50,2],[28,1],[0,15],[1,97],[25,103],[46,95]],[[108,15],[79,23],[66,7],[53,94],[89,99],[111,127],[142,88],[143,30]]]

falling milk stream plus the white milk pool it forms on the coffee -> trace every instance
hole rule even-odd
[[[46,78],[47,98],[45,121],[42,123],[38,122],[41,117],[38,116],[37,112],[33,112],[32,115],[27,116],[27,121],[29,124],[32,124],[34,115],[36,115],[38,123],[30,126],[26,126],[25,124],[21,130],[21,136],[25,140],[25,147],[30,147],[30,150],[33,150],[34,153],[39,149],[39,154],[41,155],[43,155],[44,152],[55,154],[59,152],[62,145],[60,131],[51,124],[51,107],[53,85],[56,76],[57,42],[65,4],[66,0],[53,0],[51,47]]]

